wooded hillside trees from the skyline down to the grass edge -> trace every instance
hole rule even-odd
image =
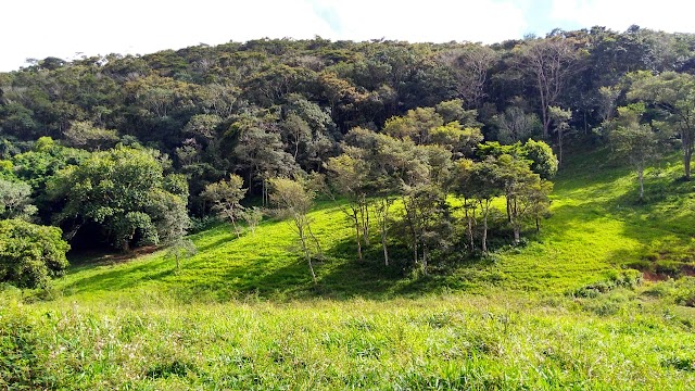
[[[583,137],[623,140],[616,155],[634,157],[624,141],[634,137],[620,136],[648,125],[681,142],[690,177],[694,53],[693,35],[633,26],[491,46],[263,39],[33,61],[0,74],[3,218],[61,226],[77,245],[127,249],[180,236],[186,224],[175,223],[188,222],[187,209],[213,212],[206,189],[230,174],[267,203],[275,178],[318,173],[350,200],[357,245],[369,238],[364,213],[388,212],[395,197],[405,214],[393,229],[408,232],[413,260],[426,263],[446,248],[430,232],[445,231],[435,224],[446,220],[448,193],[465,200],[471,227],[506,195],[518,241],[531,195],[509,173],[547,190],[540,165],[553,165],[532,155],[542,149],[533,140],[560,165],[564,146]],[[478,245],[469,231],[466,245],[486,251],[486,229]]]

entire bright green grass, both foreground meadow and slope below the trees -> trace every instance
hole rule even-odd
[[[695,389],[694,185],[664,165],[639,202],[603,156],[568,162],[527,245],[427,277],[357,262],[331,202],[316,287],[283,222],[194,235],[180,270],[80,260],[0,292],[0,389]]]

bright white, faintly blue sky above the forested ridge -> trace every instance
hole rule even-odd
[[[2,0],[0,72],[258,38],[500,42],[636,24],[695,33],[685,0]]]

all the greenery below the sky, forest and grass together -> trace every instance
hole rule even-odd
[[[694,58],[633,26],[0,74],[0,388],[693,388]]]

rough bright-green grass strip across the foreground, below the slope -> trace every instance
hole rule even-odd
[[[30,307],[5,297],[2,370],[73,390],[692,389],[692,325],[633,294]]]

